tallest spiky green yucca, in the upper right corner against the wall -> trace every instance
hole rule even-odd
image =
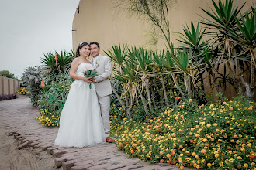
[[[223,56],[223,59],[227,59],[227,66],[234,83],[237,84],[239,93],[243,93],[241,85],[243,84],[246,89],[245,96],[252,100],[254,96],[254,83],[252,83],[254,82],[254,76],[252,76],[254,75],[254,66],[251,66],[251,84],[245,82],[243,74],[246,71],[244,63],[248,65],[247,53],[251,53],[254,50],[253,46],[251,46],[251,51],[247,50],[250,49],[248,44],[251,44],[252,40],[255,39],[255,36],[253,36],[255,31],[254,8],[251,10],[250,17],[248,12],[240,15],[240,11],[246,2],[240,7],[237,7],[237,3],[234,3],[233,0],[219,0],[219,5],[216,5],[213,0],[212,2],[214,6],[213,9],[211,8],[212,12],[202,9],[210,17],[210,19],[204,18],[205,21],[202,21],[202,24],[208,26],[211,30],[209,34],[215,33],[217,35],[215,44],[222,50],[220,55]],[[251,64],[254,65],[254,53],[251,53],[250,58]],[[232,70],[232,65],[235,70]],[[239,78],[236,78],[237,74]]]

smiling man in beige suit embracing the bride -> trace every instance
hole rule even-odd
[[[109,80],[109,76],[112,74],[112,66],[110,59],[107,56],[99,54],[99,43],[91,42],[91,60],[92,66],[98,72],[98,76],[92,79],[95,83],[96,93],[99,100],[99,106],[102,114],[102,123],[104,132],[106,134],[106,141],[112,143],[112,138],[109,137],[110,122],[109,122],[109,109],[110,109],[110,94],[112,94],[112,88]]]

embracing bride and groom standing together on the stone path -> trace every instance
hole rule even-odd
[[[75,80],[61,112],[56,145],[83,148],[113,141],[109,137],[112,66],[109,57],[100,55],[99,49],[98,42],[78,45],[70,70]],[[90,55],[93,59],[88,61]],[[98,75],[85,77],[86,70],[95,70]]]

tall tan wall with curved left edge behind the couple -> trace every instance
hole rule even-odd
[[[239,0],[241,5],[246,0]],[[236,0],[234,1],[236,2]],[[254,0],[248,0],[244,9],[250,7]],[[171,41],[177,42],[178,38],[174,32],[183,32],[185,23],[197,22],[199,15],[206,16],[199,7],[209,10],[211,0],[178,0],[171,8]],[[81,0],[79,13],[75,12],[73,21],[73,48],[76,50],[82,41],[99,42],[103,50],[109,49],[114,44],[128,43],[129,45],[144,46],[153,49],[163,49],[164,41],[159,41],[157,46],[148,46],[145,30],[149,27],[147,23],[138,21],[134,17],[127,17],[126,12],[113,15],[112,0]]]

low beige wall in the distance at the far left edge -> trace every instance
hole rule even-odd
[[[19,80],[0,76],[0,95],[15,94],[20,87]]]

